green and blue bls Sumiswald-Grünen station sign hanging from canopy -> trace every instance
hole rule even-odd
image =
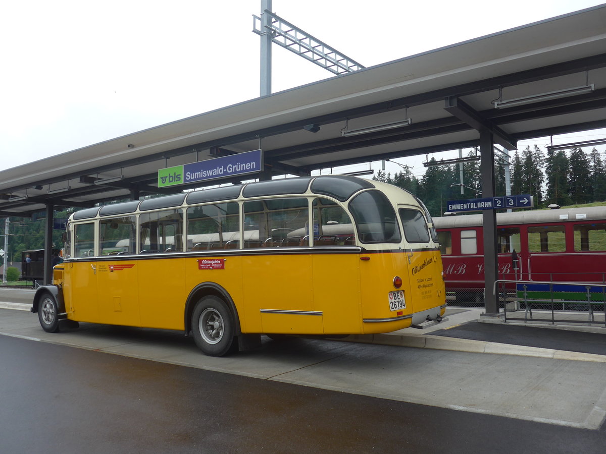
[[[262,169],[263,156],[261,150],[247,151],[159,169],[158,188],[259,173]]]

